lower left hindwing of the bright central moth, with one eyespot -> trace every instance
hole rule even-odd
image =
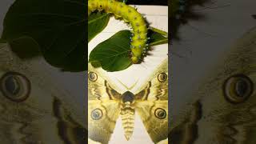
[[[110,141],[116,120],[120,114],[119,103],[113,100],[88,102],[89,138],[102,144]]]

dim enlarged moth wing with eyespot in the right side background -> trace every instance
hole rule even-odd
[[[170,116],[171,143],[256,142],[256,27],[218,58],[190,101]]]

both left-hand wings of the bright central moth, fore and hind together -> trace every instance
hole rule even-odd
[[[110,141],[120,114],[117,99],[121,94],[110,86],[100,70],[90,64],[88,70],[88,135],[91,140],[105,144]]]

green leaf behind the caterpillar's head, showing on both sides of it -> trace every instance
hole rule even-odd
[[[150,46],[168,42],[168,38],[153,30],[149,30],[148,34],[150,35]],[[102,69],[107,71],[125,70],[132,65],[130,61],[130,36],[130,30],[122,30],[101,42],[91,51],[89,62],[95,67],[102,66]]]

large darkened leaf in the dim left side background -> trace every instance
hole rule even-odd
[[[84,0],[16,0],[2,38],[22,58],[38,56],[39,50],[52,66],[86,70],[86,7]]]

